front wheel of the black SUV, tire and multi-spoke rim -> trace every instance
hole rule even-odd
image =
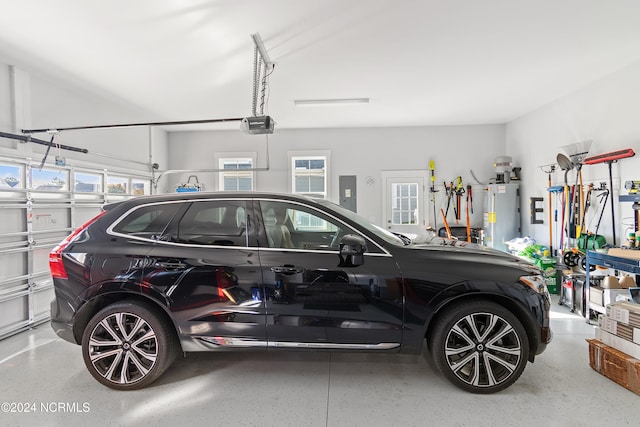
[[[513,384],[529,356],[522,323],[491,301],[466,301],[442,312],[429,348],[437,368],[455,386],[480,394]]]

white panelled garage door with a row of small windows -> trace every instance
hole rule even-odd
[[[140,172],[0,157],[0,339],[49,320],[51,249],[103,204],[150,188]]]

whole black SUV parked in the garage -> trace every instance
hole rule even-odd
[[[551,341],[542,273],[514,256],[413,241],[284,194],[178,193],[110,204],[50,254],[52,326],[115,389],[182,352],[420,353],[492,393]]]

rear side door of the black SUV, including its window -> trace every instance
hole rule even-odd
[[[197,200],[148,255],[180,333],[205,348],[266,349],[265,305],[247,202]],[[183,344],[184,345],[184,344]]]

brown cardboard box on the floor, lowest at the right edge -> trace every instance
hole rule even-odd
[[[594,371],[640,394],[640,360],[600,341],[590,339],[587,342],[589,365]]]

